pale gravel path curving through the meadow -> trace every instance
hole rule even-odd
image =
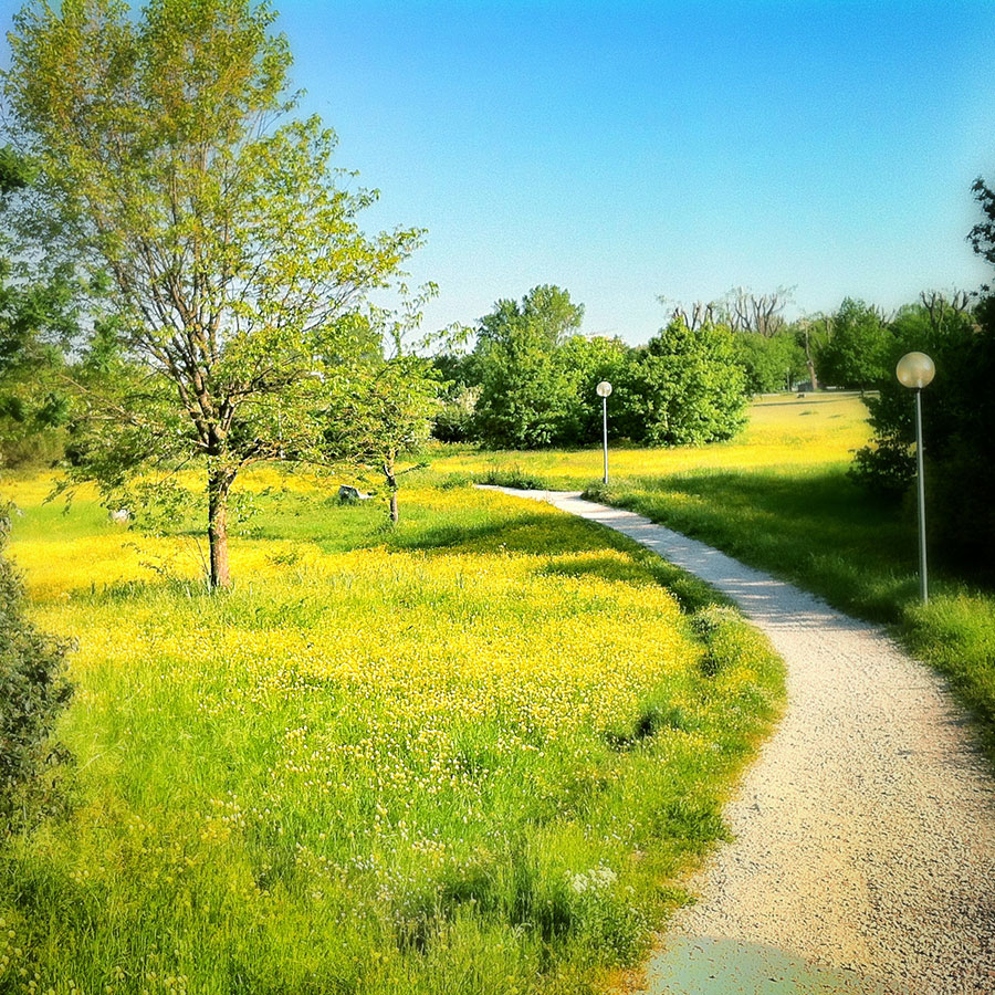
[[[942,679],[881,629],[632,512],[505,493],[622,532],[708,580],[787,664],[787,712],[726,808],[734,841],[692,882],[700,900],[674,919],[648,991],[824,991],[773,975],[723,984],[716,951],[732,943],[741,963],[773,949],[855,984],[825,991],[995,995],[995,783]],[[713,965],[711,983],[682,974],[695,956]]]

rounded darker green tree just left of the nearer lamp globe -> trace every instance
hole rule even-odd
[[[824,385],[865,389],[889,376],[893,337],[877,307],[847,297],[830,328],[816,355],[816,371]]]

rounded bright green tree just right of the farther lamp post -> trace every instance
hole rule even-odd
[[[730,439],[746,422],[746,404],[732,333],[680,318],[650,339],[619,386],[624,433],[654,446]]]

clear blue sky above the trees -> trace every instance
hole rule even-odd
[[[556,283],[584,331],[642,342],[660,294],[892,308],[986,275],[991,0],[274,6],[303,111],[381,191],[368,227],[428,229],[429,327]]]

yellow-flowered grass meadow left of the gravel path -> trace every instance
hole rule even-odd
[[[65,810],[0,849],[2,993],[580,993],[632,963],[776,718],[767,645],[621,537],[274,472],[190,535],[4,480],[72,637]],[[182,525],[182,523],[180,523]]]

